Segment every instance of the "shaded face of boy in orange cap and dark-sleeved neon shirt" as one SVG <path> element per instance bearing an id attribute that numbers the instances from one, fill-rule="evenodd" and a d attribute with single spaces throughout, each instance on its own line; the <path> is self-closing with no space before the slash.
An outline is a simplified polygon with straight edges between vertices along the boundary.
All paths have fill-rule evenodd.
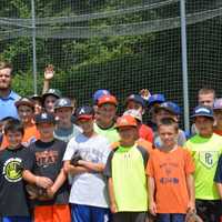
<path id="1" fill-rule="evenodd" d="M 138 129 L 134 127 L 119 128 L 120 139 L 124 143 L 132 143 L 138 139 Z"/>

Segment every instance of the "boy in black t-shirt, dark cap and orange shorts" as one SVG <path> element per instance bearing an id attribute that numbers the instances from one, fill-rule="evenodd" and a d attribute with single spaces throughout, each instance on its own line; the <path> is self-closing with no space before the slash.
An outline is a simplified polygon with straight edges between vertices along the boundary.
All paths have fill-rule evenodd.
<path id="1" fill-rule="evenodd" d="M 50 113 L 36 115 L 40 140 L 27 149 L 23 179 L 32 185 L 32 190 L 38 190 L 31 194 L 34 222 L 71 221 L 67 174 L 62 162 L 67 144 L 54 139 L 54 117 Z"/>

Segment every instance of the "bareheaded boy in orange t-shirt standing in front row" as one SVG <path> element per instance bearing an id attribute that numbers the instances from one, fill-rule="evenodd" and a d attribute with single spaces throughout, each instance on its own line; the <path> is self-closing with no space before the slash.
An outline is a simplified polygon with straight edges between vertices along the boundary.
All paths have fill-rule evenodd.
<path id="1" fill-rule="evenodd" d="M 152 151 L 148 164 L 150 213 L 158 222 L 184 222 L 194 211 L 194 163 L 189 151 L 178 147 L 178 123 L 164 118 L 158 125 L 162 149 Z"/>

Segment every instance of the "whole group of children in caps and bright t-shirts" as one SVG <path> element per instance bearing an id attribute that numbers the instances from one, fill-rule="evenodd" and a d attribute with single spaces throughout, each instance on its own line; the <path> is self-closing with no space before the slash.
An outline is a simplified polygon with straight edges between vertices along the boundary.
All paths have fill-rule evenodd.
<path id="1" fill-rule="evenodd" d="M 222 99 L 208 100 L 202 89 L 188 139 L 178 104 L 145 90 L 119 118 L 108 90 L 78 109 L 52 89 L 21 98 L 20 120 L 2 120 L 2 222 L 222 221 Z"/>

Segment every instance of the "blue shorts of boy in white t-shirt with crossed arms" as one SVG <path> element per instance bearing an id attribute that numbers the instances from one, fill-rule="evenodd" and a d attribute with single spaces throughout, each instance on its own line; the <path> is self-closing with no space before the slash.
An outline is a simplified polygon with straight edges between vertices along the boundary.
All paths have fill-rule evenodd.
<path id="1" fill-rule="evenodd" d="M 71 204 L 71 215 L 74 222 L 110 222 L 111 213 L 108 208 Z"/>

